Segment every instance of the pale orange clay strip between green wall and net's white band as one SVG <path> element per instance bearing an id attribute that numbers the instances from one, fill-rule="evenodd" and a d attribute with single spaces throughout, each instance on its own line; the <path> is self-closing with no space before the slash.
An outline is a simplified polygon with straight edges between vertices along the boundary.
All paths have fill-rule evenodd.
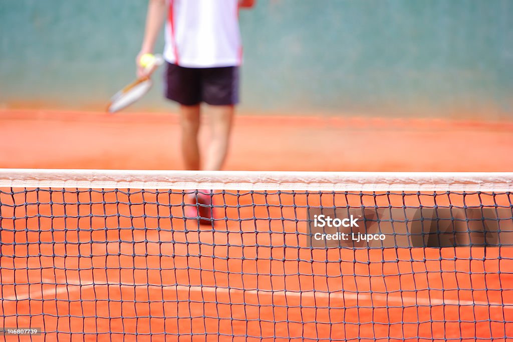
<path id="1" fill-rule="evenodd" d="M 0 126 L 2 168 L 183 168 L 174 114 L 0 110 Z M 513 171 L 512 132 L 513 122 L 238 115 L 225 169 Z"/>

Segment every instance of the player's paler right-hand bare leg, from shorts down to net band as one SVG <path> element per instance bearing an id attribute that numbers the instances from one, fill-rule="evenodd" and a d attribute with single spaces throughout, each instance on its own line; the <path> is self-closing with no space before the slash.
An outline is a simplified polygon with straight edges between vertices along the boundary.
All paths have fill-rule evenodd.
<path id="1" fill-rule="evenodd" d="M 210 137 L 205 154 L 205 170 L 221 170 L 228 152 L 234 106 L 210 106 Z"/>

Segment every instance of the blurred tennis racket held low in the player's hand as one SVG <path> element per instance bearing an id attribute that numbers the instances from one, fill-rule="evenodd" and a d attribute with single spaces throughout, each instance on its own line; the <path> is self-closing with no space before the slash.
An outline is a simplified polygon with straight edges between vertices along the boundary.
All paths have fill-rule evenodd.
<path id="1" fill-rule="evenodd" d="M 110 113 L 118 112 L 143 97 L 151 88 L 151 74 L 164 63 L 162 55 L 155 55 L 152 63 L 146 66 L 147 74 L 144 77 L 137 78 L 125 88 L 121 89 L 110 98 L 107 111 Z"/>

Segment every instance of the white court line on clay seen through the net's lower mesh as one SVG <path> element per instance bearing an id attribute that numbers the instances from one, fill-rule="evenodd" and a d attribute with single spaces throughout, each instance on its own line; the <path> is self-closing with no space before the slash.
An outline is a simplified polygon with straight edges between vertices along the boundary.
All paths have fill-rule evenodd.
<path id="1" fill-rule="evenodd" d="M 43 283 L 53 284 L 53 279 L 42 279 Z M 117 283 L 114 281 L 92 281 L 92 280 L 78 280 L 78 279 L 67 279 L 68 284 L 55 284 L 55 289 L 39 289 L 29 291 L 24 294 L 16 294 L 12 296 L 5 296 L 4 300 L 27 300 L 27 299 L 37 299 L 44 298 L 49 295 L 56 295 L 61 293 L 70 293 L 73 291 L 81 291 L 83 289 L 94 288 L 95 286 L 116 286 L 120 288 L 134 288 L 134 287 L 148 287 L 146 283 Z M 426 297 L 403 297 L 397 294 L 383 294 L 383 293 L 351 293 L 351 292 L 336 292 L 336 293 L 326 293 L 320 291 L 288 291 L 288 290 L 241 290 L 241 289 L 227 289 L 227 288 L 216 288 L 216 287 L 206 287 L 206 286 L 188 286 L 188 285 L 149 285 L 152 287 L 162 288 L 165 291 L 176 291 L 176 292 L 193 292 L 193 293 L 225 293 L 225 294 L 251 294 L 256 296 L 285 296 L 292 298 L 326 298 L 330 300 L 338 299 L 338 300 L 378 300 L 385 301 L 386 303 L 394 303 L 399 305 L 424 305 L 424 306 L 432 306 L 432 305 L 453 305 L 453 306 L 498 306 L 503 307 L 504 309 L 513 309 L 513 304 L 499 303 L 499 302 L 488 302 L 488 301 L 474 301 L 474 300 L 455 300 L 455 299 L 443 299 L 443 298 L 426 298 Z M 235 303 L 235 305 L 240 305 L 239 303 Z"/>

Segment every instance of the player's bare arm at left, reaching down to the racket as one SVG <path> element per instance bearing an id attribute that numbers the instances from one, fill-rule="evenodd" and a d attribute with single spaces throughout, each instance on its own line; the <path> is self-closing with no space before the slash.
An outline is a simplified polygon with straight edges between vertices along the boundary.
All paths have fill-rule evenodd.
<path id="1" fill-rule="evenodd" d="M 145 74 L 145 69 L 139 65 L 139 60 L 145 53 L 153 53 L 155 42 L 164 24 L 164 14 L 166 13 L 166 0 L 149 0 L 148 13 L 146 15 L 146 28 L 144 31 L 143 45 L 141 51 L 137 54 L 135 63 L 137 65 L 137 77 Z"/>

